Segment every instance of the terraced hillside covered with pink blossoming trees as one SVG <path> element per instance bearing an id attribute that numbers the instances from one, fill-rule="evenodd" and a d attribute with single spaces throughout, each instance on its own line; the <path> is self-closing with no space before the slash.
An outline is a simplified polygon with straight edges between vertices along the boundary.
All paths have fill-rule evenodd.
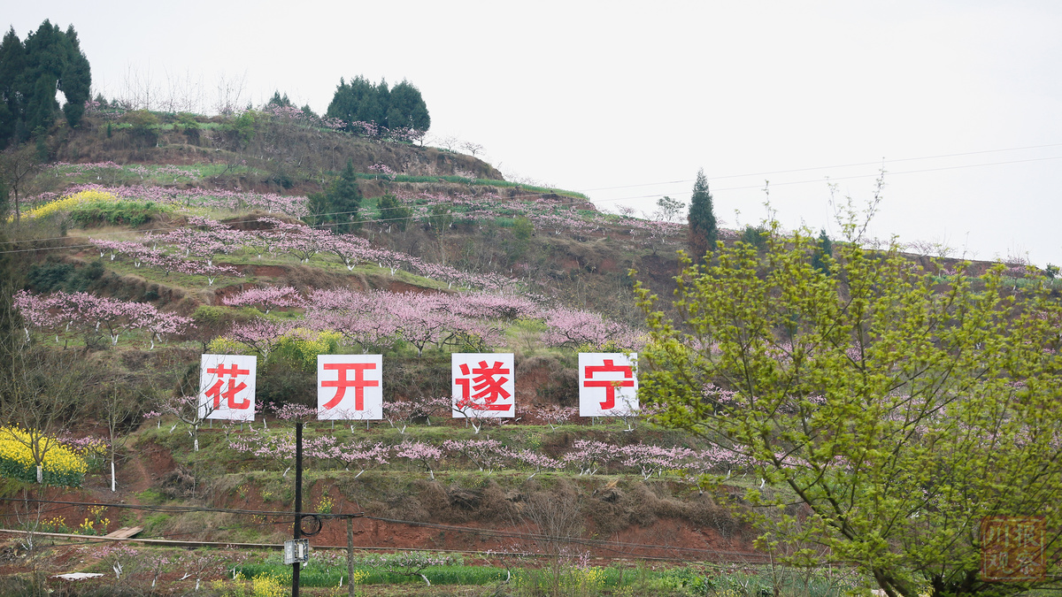
<path id="1" fill-rule="evenodd" d="M 294 500 L 293 424 L 315 412 L 318 355 L 382 354 L 382 420 L 306 424 L 304 507 L 358 513 L 355 545 L 491 550 L 490 565 L 511 557 L 531 568 L 529 555 L 764 561 L 727 506 L 747 508 L 740 494 L 763 483 L 747 460 L 643 417 L 573 408 L 580 352 L 640 348 L 628 272 L 671 295 L 685 226 L 602 214 L 579 193 L 512 184 L 436 148 L 261 113 L 242 130 L 232 118 L 150 116 L 57 125 L 51 161 L 21 186 L 24 216 L 7 227 L 22 251 L 15 354 L 51 368 L 46 392 L 78 398 L 21 422 L 88 462 L 82 477 L 68 472 L 76 489 L 41 491 L 24 475 L 5 485 L 5 498 L 79 502 L 38 509 L 27 528 L 279 542 L 291 532 L 278 513 Z M 307 195 L 348 161 L 364 198 L 354 229 L 306 226 Z M 929 271 L 956 266 L 909 257 Z M 1021 268 L 1013 276 L 1017 291 Z M 514 354 L 513 420 L 450 416 L 450 354 L 479 352 Z M 189 409 L 204 353 L 257 356 L 254 423 Z M 701 491 L 708 472 L 729 480 Z M 342 521 L 325 517 L 311 543 L 345 545 Z M 206 576 L 221 576 L 213 568 Z"/>

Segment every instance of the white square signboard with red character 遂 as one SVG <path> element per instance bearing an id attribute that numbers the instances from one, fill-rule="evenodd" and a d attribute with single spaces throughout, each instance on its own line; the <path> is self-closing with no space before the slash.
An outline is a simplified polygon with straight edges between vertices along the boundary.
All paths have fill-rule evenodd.
<path id="1" fill-rule="evenodd" d="M 512 353 L 453 353 L 450 371 L 455 419 L 516 414 Z"/>

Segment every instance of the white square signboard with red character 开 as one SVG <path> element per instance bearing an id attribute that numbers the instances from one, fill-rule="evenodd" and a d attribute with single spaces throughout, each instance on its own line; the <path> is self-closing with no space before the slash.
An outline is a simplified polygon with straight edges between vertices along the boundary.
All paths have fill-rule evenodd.
<path id="1" fill-rule="evenodd" d="M 318 355 L 318 419 L 383 419 L 383 356 Z"/>

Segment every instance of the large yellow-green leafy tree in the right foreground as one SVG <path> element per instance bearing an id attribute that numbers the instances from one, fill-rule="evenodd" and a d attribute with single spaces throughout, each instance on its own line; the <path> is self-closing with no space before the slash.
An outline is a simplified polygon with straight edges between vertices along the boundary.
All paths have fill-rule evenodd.
<path id="1" fill-rule="evenodd" d="M 1003 266 L 942 286 L 896 243 L 862 249 L 853 221 L 828 273 L 809 231 L 776 223 L 765 253 L 686 258 L 674 321 L 638 285 L 643 404 L 748 458 L 759 546 L 791 564 L 855 565 L 890 597 L 1048 582 L 981 578 L 979 527 L 1042 517 L 1058 574 L 1062 305 L 1046 279 L 1014 294 Z"/>

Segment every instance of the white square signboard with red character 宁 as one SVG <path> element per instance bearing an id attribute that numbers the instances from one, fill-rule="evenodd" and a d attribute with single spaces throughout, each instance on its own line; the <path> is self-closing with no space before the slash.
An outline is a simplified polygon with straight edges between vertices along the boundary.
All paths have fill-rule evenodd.
<path id="1" fill-rule="evenodd" d="M 638 412 L 637 353 L 579 353 L 579 416 Z"/>

